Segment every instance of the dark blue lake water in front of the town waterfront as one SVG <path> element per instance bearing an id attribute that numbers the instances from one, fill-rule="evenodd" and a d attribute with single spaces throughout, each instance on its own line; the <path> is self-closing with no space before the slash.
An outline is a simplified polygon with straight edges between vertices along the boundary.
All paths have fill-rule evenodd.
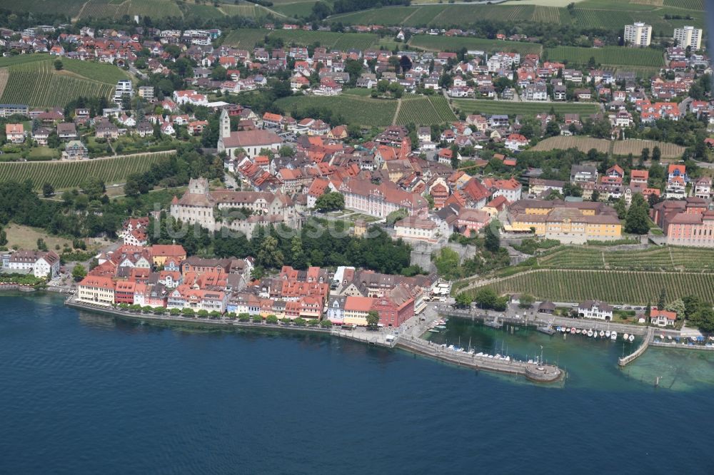
<path id="1" fill-rule="evenodd" d="M 655 389 L 572 342 L 561 364 L 593 357 L 543 387 L 323 336 L 135 325 L 49 295 L 0 308 L 3 474 L 713 471 L 701 357 L 685 389 Z"/>

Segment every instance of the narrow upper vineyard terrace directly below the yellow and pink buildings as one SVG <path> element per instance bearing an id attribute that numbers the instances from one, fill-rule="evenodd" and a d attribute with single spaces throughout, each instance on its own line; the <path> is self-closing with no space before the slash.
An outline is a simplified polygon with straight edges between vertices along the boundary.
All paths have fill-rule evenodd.
<path id="1" fill-rule="evenodd" d="M 653 247 L 645 250 L 603 251 L 597 247 L 567 246 L 540 255 L 538 265 L 553 269 L 714 272 L 714 250 Z"/>

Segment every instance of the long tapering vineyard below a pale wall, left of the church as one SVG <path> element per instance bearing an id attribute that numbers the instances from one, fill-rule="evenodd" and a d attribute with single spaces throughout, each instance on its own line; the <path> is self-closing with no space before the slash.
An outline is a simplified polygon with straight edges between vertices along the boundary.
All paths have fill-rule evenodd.
<path id="1" fill-rule="evenodd" d="M 32 180 L 35 188 L 50 183 L 56 190 L 74 188 L 87 178 L 101 178 L 111 184 L 123 181 L 131 173 L 149 170 L 160 158 L 174 153 L 124 155 L 81 161 L 0 163 L 0 181 Z"/>

